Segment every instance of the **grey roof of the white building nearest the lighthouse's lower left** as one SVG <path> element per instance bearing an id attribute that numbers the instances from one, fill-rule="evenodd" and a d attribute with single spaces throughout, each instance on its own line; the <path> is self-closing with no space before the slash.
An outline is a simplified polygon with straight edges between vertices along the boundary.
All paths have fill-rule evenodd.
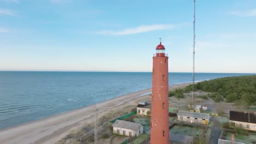
<path id="1" fill-rule="evenodd" d="M 141 124 L 139 124 L 139 123 L 121 121 L 121 120 L 118 120 L 118 119 L 117 119 L 117 121 L 115 121 L 112 124 L 112 127 L 131 129 L 131 130 L 135 130 L 135 131 L 138 130 L 140 126 L 141 126 Z"/>

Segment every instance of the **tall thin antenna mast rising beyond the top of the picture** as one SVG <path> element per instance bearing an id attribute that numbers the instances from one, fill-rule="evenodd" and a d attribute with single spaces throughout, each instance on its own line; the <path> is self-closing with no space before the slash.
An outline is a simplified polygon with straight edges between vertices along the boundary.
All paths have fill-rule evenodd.
<path id="1" fill-rule="evenodd" d="M 193 17 L 193 109 L 194 109 L 194 85 L 195 85 L 195 0 L 194 0 L 194 17 Z"/>

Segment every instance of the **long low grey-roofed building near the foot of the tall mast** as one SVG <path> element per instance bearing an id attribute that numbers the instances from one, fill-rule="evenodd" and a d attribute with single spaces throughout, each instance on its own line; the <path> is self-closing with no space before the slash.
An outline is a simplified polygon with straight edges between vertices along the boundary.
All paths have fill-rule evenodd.
<path id="1" fill-rule="evenodd" d="M 180 122 L 201 123 L 201 124 L 209 124 L 210 122 L 209 113 L 178 111 L 177 116 L 178 116 L 178 121 Z"/>

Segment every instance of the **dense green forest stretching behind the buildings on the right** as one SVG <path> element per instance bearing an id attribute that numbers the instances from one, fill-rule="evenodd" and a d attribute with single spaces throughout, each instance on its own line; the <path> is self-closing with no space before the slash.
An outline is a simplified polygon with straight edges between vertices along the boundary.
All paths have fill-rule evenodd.
<path id="1" fill-rule="evenodd" d="M 183 98 L 184 93 L 192 91 L 193 85 L 178 88 L 169 92 L 169 97 Z M 195 91 L 211 92 L 204 98 L 210 97 L 219 102 L 226 100 L 228 103 L 239 103 L 241 105 L 256 105 L 256 75 L 232 76 L 219 79 L 197 82 Z"/>

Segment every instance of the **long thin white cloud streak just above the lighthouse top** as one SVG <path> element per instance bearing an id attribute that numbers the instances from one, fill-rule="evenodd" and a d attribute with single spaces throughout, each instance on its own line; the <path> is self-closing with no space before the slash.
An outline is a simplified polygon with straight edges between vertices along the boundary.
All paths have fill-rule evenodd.
<path id="1" fill-rule="evenodd" d="M 136 34 L 136 33 L 144 33 L 149 31 L 156 31 L 156 30 L 162 30 L 162 29 L 171 29 L 174 28 L 174 25 L 165 24 L 165 25 L 147 25 L 147 26 L 138 26 L 135 28 L 127 28 L 120 31 L 108 31 L 103 30 L 96 32 L 97 34 L 103 34 L 103 35 L 127 35 L 127 34 Z"/>

